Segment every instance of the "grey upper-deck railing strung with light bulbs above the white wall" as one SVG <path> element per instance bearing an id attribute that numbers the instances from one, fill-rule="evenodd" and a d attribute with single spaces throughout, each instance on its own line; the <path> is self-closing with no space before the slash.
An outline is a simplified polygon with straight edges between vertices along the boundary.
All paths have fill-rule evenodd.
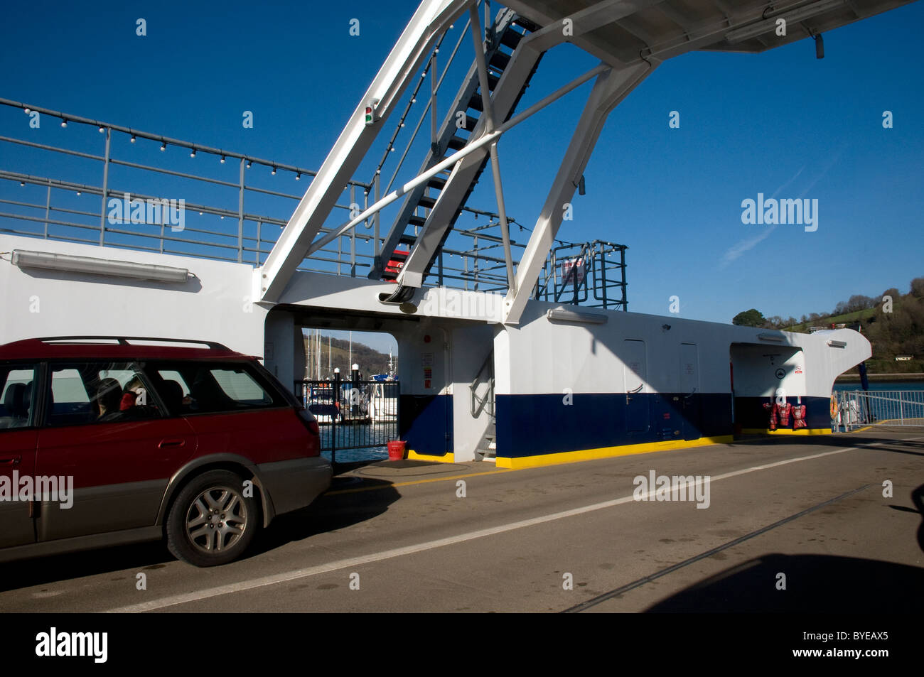
<path id="1" fill-rule="evenodd" d="M 38 127 L 30 124 L 33 120 Z M 3 163 L 15 163 L 0 164 L 0 233 L 13 235 L 259 266 L 315 174 L 306 167 L 6 99 L 0 99 L 0 130 L 21 132 L 0 134 Z M 349 181 L 321 233 L 368 207 L 381 192 L 380 176 L 371 183 Z M 468 223 L 457 224 L 440 248 L 426 284 L 505 293 L 498 215 L 468 206 L 463 212 Z M 313 253 L 299 270 L 365 277 L 384 242 L 377 218 Z M 531 230 L 508 219 L 516 265 Z M 523 231 L 527 237 L 517 241 L 515 234 Z M 598 267 L 594 263 L 594 270 Z M 557 263 L 547 263 L 537 289 L 550 284 L 549 276 L 559 270 Z M 593 299 L 600 305 L 597 292 Z M 611 304 L 604 299 L 602 305 Z"/>

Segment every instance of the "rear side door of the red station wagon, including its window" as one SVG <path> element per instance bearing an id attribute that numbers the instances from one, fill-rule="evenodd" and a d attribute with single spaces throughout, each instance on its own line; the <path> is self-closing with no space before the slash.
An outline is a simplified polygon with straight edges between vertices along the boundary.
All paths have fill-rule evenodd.
<path id="1" fill-rule="evenodd" d="M 163 401 L 143 381 L 144 405 L 101 416 L 127 385 L 144 379 L 129 363 L 49 365 L 50 407 L 40 429 L 36 472 L 70 483 L 73 501 L 43 502 L 40 541 L 153 526 L 169 479 L 196 451 L 183 417 L 166 416 Z M 106 383 L 117 387 L 101 392 Z M 107 394 L 108 393 L 108 394 Z"/>

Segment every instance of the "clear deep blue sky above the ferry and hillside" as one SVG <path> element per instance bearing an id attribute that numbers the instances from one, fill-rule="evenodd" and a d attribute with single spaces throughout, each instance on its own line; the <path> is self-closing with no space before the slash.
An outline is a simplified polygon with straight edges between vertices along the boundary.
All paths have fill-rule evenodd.
<path id="1" fill-rule="evenodd" d="M 0 96 L 317 168 L 413 9 L 359 0 L 11 4 L 0 27 Z M 351 18 L 359 37 L 349 35 Z M 924 275 L 922 25 L 924 4 L 913 3 L 826 33 L 823 60 L 806 40 L 665 63 L 610 116 L 587 195 L 575 198 L 575 220 L 559 237 L 627 245 L 629 308 L 638 312 L 667 314 L 676 295 L 687 318 L 728 322 L 747 308 L 798 318 L 853 294 L 906 291 Z M 461 49 L 468 66 L 469 38 Z M 521 109 L 595 64 L 570 45 L 547 54 Z M 501 141 L 507 211 L 518 223 L 534 224 L 589 89 Z M 253 128 L 242 127 L 244 110 Z M 672 110 L 679 129 L 668 127 Z M 881 124 L 886 110 L 892 129 Z M 26 122 L 0 116 L 5 135 Z M 35 136 L 54 143 L 71 127 Z M 18 151 L 0 151 L 0 166 L 42 174 Z M 357 178 L 370 174 L 365 163 Z M 818 199 L 818 230 L 742 224 L 741 201 L 758 193 Z M 490 175 L 469 204 L 495 209 Z M 520 241 L 528 235 L 514 229 Z"/>

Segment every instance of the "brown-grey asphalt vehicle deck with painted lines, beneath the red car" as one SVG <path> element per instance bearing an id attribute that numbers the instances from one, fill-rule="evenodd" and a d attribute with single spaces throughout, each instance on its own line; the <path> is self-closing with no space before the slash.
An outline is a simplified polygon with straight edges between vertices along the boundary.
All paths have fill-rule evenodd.
<path id="1" fill-rule="evenodd" d="M 659 501 L 660 476 L 692 476 L 687 500 Z M 0 611 L 918 611 L 922 520 L 921 430 L 529 470 L 383 462 L 225 566 L 161 543 L 0 565 Z"/>

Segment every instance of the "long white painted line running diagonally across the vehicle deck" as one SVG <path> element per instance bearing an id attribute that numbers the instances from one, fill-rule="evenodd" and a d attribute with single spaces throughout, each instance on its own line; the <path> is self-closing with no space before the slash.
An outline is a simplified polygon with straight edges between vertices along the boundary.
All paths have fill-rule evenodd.
<path id="1" fill-rule="evenodd" d="M 772 468 L 777 465 L 786 465 L 790 463 L 797 463 L 799 461 L 808 461 L 814 458 L 821 458 L 821 456 L 830 456 L 835 453 L 844 453 L 851 451 L 859 451 L 856 447 L 845 447 L 844 449 L 835 449 L 832 452 L 825 453 L 816 453 L 810 456 L 801 456 L 798 458 L 788 459 L 785 461 L 779 461 L 777 463 L 772 463 L 769 465 L 758 465 L 755 467 L 745 468 L 743 470 L 736 470 L 734 472 L 725 473 L 711 478 L 711 481 L 717 481 L 719 479 L 725 478 L 734 478 L 739 475 L 746 475 L 748 473 L 755 472 L 757 470 L 765 470 L 767 468 Z M 654 491 L 649 492 L 650 495 L 654 495 Z M 580 508 L 572 508 L 571 510 L 565 510 L 560 513 L 546 514 L 541 517 L 531 517 L 529 519 L 520 520 L 518 522 L 511 522 L 510 524 L 501 525 L 501 526 L 492 526 L 486 529 L 479 529 L 477 531 L 469 531 L 465 534 L 459 534 L 458 536 L 450 536 L 447 538 L 438 538 L 436 540 L 426 541 L 424 543 L 418 543 L 416 545 L 405 546 L 403 548 L 394 548 L 392 550 L 383 550 L 381 552 L 373 552 L 369 555 L 360 555 L 359 557 L 350 557 L 346 560 L 337 560 L 336 562 L 328 562 L 326 564 L 318 564 L 316 566 L 306 567 L 304 569 L 296 569 L 294 571 L 286 572 L 285 574 L 274 574 L 269 576 L 262 576 L 261 578 L 253 578 L 248 581 L 241 581 L 239 583 L 231 583 L 226 586 L 216 586 L 206 589 L 199 590 L 197 592 L 188 592 L 181 593 L 179 595 L 172 595 L 170 597 L 152 599 L 147 602 L 140 602 L 139 604 L 130 604 L 125 607 L 118 607 L 116 609 L 110 609 L 105 611 L 106 613 L 138 613 L 141 611 L 153 611 L 155 609 L 163 609 L 164 607 L 176 606 L 176 604 L 186 604 L 188 602 L 198 601 L 200 599 L 207 599 L 218 597 L 220 595 L 229 595 L 235 592 L 243 592 L 246 590 L 252 590 L 257 587 L 264 586 L 273 586 L 278 583 L 286 583 L 288 581 L 293 581 L 298 578 L 306 578 L 308 576 L 313 576 L 317 574 L 327 574 L 337 569 L 345 569 L 346 567 L 352 566 L 362 566 L 364 564 L 371 564 L 372 562 L 381 562 L 382 560 L 388 560 L 393 557 L 401 557 L 403 555 L 410 555 L 416 552 L 422 552 L 424 550 L 433 550 L 434 548 L 442 548 L 447 545 L 455 545 L 456 543 L 464 543 L 467 540 L 474 540 L 475 538 L 485 538 L 487 536 L 494 536 L 496 534 L 503 534 L 507 531 L 513 531 L 514 529 L 521 529 L 526 526 L 536 526 L 541 525 L 546 522 L 553 522 L 554 520 L 559 520 L 564 517 L 573 517 L 578 514 L 592 513 L 597 510 L 602 510 L 604 508 L 612 508 L 615 505 L 621 505 L 623 503 L 633 503 L 636 502 L 635 497 L 630 494 L 619 499 L 614 499 L 613 501 L 604 501 L 600 503 L 592 503 L 591 505 L 585 505 Z"/>

